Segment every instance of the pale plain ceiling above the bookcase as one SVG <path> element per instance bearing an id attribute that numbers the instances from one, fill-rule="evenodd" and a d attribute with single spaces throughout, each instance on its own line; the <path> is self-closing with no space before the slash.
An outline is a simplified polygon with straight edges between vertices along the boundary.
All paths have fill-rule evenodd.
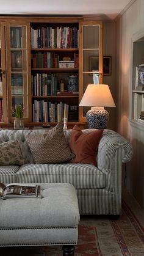
<path id="1" fill-rule="evenodd" d="M 95 15 L 115 19 L 132 0 L 2 0 L 0 15 Z"/>

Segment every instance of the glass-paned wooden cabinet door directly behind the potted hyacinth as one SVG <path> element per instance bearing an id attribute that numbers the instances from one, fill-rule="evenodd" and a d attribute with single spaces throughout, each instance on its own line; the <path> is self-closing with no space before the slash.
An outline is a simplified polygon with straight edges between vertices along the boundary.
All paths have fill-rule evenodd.
<path id="1" fill-rule="evenodd" d="M 11 108 L 21 104 L 25 121 L 30 119 L 29 95 L 29 49 L 27 48 L 27 27 L 28 25 L 9 24 L 9 120 L 13 120 Z"/>

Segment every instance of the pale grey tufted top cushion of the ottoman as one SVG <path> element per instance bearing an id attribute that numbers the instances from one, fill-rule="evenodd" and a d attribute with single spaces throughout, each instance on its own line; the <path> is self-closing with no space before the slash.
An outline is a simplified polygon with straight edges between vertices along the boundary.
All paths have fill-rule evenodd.
<path id="1" fill-rule="evenodd" d="M 0 230 L 68 228 L 79 223 L 76 189 L 70 184 L 43 184 L 41 198 L 0 200 L 0 208 Z"/>

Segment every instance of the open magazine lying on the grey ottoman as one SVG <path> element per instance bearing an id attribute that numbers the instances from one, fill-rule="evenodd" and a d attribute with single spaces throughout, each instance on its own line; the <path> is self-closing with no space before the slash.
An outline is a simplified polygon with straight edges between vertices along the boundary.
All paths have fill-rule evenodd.
<path id="1" fill-rule="evenodd" d="M 12 197 L 40 197 L 40 186 L 31 184 L 0 183 L 0 199 Z"/>

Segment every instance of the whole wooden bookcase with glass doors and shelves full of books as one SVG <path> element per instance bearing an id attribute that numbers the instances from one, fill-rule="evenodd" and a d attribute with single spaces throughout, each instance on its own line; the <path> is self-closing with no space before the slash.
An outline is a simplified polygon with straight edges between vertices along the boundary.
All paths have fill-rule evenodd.
<path id="1" fill-rule="evenodd" d="M 13 126 L 11 108 L 21 103 L 27 109 L 27 127 L 56 125 L 65 111 L 68 127 L 84 127 L 85 110 L 79 101 L 93 83 L 93 73 L 101 74 L 99 82 L 103 77 L 102 22 L 76 16 L 7 16 L 0 21 L 1 126 Z M 90 57 L 96 57 L 97 70 L 90 70 Z M 69 66 L 60 66 L 66 63 Z M 78 79 L 77 93 L 67 92 L 70 76 Z"/>

